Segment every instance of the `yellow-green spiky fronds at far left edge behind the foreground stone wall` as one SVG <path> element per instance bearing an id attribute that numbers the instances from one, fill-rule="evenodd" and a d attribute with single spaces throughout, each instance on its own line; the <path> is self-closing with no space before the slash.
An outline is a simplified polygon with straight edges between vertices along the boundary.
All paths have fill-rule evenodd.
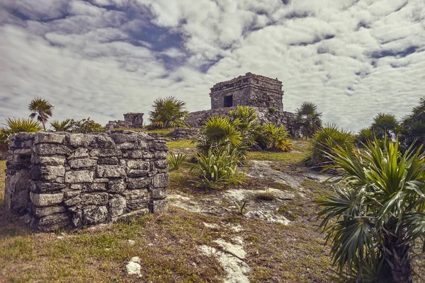
<path id="1" fill-rule="evenodd" d="M 19 132 L 38 132 L 42 130 L 40 123 L 32 119 L 6 118 L 6 127 L 0 129 L 0 143 L 8 143 L 12 134 Z"/>

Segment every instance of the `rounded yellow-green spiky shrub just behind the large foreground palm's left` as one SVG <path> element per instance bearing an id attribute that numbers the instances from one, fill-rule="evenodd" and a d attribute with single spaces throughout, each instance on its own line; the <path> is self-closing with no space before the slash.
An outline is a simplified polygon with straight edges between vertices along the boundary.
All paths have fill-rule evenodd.
<path id="1" fill-rule="evenodd" d="M 331 154 L 336 146 L 353 149 L 353 135 L 336 124 L 325 125 L 312 138 L 310 155 L 305 159 L 308 166 L 327 166 L 333 163 Z"/>

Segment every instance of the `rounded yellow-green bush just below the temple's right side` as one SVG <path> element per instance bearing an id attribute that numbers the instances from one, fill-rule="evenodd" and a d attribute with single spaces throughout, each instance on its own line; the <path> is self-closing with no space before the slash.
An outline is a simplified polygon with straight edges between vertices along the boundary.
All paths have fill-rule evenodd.
<path id="1" fill-rule="evenodd" d="M 285 126 L 277 127 L 271 122 L 267 122 L 259 128 L 256 142 L 261 149 L 290 151 L 293 148 L 293 144 L 288 139 L 288 132 L 286 132 Z"/>

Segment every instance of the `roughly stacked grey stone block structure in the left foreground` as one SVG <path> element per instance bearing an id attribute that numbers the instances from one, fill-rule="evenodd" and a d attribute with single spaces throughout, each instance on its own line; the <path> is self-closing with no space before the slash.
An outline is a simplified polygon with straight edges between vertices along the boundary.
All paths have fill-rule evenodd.
<path id="1" fill-rule="evenodd" d="M 39 231 L 164 212 L 167 151 L 163 139 L 144 132 L 14 134 L 6 207 Z"/>

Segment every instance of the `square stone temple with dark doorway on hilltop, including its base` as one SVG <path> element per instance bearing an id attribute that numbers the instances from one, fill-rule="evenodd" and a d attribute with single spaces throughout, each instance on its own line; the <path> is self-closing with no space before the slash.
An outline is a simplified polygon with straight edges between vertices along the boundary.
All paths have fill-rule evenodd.
<path id="1" fill-rule="evenodd" d="M 211 109 L 189 113 L 186 122 L 191 127 L 200 127 L 212 116 L 225 117 L 229 110 L 238 105 L 249 106 L 256 110 L 257 120 L 263 124 L 273 122 L 293 135 L 294 115 L 283 111 L 282 82 L 266 76 L 246 73 L 229 81 L 216 83 L 210 88 Z"/>

